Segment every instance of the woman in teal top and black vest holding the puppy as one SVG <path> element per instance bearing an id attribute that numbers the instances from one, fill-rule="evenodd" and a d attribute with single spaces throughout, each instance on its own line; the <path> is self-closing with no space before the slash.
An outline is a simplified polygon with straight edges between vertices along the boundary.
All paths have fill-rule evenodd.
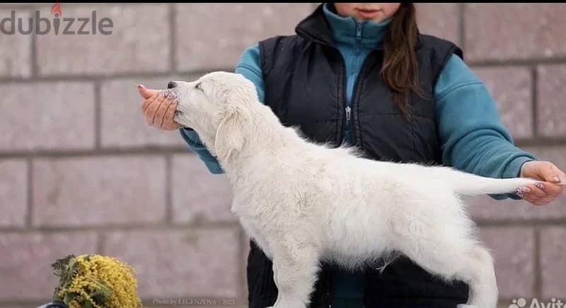
<path id="1" fill-rule="evenodd" d="M 516 148 L 485 85 L 454 43 L 421 35 L 413 4 L 321 4 L 296 27 L 249 47 L 236 66 L 261 102 L 312 141 L 345 141 L 369 158 L 437 163 L 485 177 L 533 177 L 495 199 L 553 201 L 566 174 Z M 139 86 L 148 123 L 179 129 L 175 102 Z M 169 111 L 167 111 L 169 110 Z M 169 113 L 169 117 L 164 114 Z M 223 173 L 195 131 L 180 133 L 210 172 Z M 250 307 L 275 302 L 270 261 L 250 242 Z M 383 272 L 347 273 L 323 264 L 311 307 L 456 307 L 468 287 L 448 285 L 402 257 Z"/>

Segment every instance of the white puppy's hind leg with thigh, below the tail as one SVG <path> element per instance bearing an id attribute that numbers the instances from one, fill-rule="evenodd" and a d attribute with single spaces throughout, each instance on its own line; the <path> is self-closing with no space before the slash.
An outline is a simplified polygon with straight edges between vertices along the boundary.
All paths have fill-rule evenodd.
<path id="1" fill-rule="evenodd" d="M 446 281 L 468 284 L 468 302 L 458 308 L 496 308 L 493 260 L 469 235 L 470 227 L 468 218 L 463 216 L 435 222 L 413 219 L 397 225 L 395 234 L 400 251 L 424 270 Z"/>

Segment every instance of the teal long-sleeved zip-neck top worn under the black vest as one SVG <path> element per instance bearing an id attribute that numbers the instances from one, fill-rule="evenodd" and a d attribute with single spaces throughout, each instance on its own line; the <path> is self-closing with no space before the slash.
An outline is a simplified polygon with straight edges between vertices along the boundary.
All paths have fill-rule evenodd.
<path id="1" fill-rule="evenodd" d="M 347 105 L 350 105 L 354 82 L 364 59 L 372 49 L 381 44 L 391 20 L 381 23 L 357 23 L 353 18 L 338 16 L 328 4 L 324 6 L 324 11 L 333 33 L 335 47 L 345 59 L 346 98 Z M 260 102 L 264 102 L 265 86 L 258 45 L 243 52 L 235 71 L 255 84 L 258 98 Z M 434 88 L 434 98 L 443 165 L 485 177 L 509 178 L 519 176 L 524 162 L 536 160 L 530 153 L 514 146 L 512 136 L 499 119 L 496 104 L 485 84 L 458 56 L 453 55 L 441 71 Z M 210 172 L 224 172 L 195 131 L 181 129 L 180 132 L 188 147 L 199 156 Z M 351 144 L 351 138 L 348 122 L 345 126 L 345 141 Z M 492 197 L 519 199 L 514 194 Z M 341 299 L 347 299 L 350 304 L 361 301 L 360 273 L 339 271 L 335 273 L 334 281 L 336 307 L 341 305 L 338 302 Z"/>

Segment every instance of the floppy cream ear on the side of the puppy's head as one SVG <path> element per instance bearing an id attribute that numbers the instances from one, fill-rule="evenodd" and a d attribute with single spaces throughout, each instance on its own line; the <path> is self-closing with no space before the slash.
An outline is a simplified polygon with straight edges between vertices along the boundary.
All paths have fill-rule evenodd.
<path id="1" fill-rule="evenodd" d="M 248 119 L 248 113 L 242 108 L 231 104 L 226 106 L 214 138 L 214 150 L 218 158 L 226 161 L 233 151 L 242 150 Z"/>

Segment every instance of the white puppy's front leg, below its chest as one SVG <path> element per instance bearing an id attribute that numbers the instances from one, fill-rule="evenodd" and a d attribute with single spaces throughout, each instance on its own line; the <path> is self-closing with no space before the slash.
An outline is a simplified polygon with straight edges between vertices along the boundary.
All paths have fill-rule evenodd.
<path id="1" fill-rule="evenodd" d="M 273 250 L 277 301 L 273 308 L 305 308 L 318 273 L 318 252 L 304 244 L 285 244 Z"/>

